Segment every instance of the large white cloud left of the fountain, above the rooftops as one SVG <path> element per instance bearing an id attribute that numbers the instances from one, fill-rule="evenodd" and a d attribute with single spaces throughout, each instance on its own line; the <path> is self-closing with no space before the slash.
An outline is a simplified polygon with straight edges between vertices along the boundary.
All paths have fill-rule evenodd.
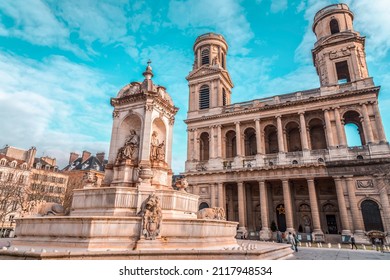
<path id="1" fill-rule="evenodd" d="M 73 150 L 107 150 L 111 108 L 101 73 L 64 57 L 0 53 L 0 143 L 36 146 L 60 166 Z M 98 105 L 96 105 L 98 104 Z M 96 151 L 96 150 L 95 150 Z"/>

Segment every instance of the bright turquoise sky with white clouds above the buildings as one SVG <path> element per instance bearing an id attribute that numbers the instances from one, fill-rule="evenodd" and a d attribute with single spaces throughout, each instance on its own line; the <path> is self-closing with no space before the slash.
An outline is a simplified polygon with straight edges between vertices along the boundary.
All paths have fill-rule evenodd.
<path id="1" fill-rule="evenodd" d="M 141 81 L 150 58 L 154 82 L 175 105 L 173 170 L 184 171 L 188 87 L 197 36 L 217 32 L 229 44 L 232 102 L 316 88 L 311 25 L 326 0 L 3 0 L 0 1 L 0 146 L 57 158 L 108 154 L 110 97 Z M 366 36 L 368 70 L 381 85 L 390 131 L 390 2 L 346 0 Z M 388 135 L 388 134 L 387 134 Z"/>

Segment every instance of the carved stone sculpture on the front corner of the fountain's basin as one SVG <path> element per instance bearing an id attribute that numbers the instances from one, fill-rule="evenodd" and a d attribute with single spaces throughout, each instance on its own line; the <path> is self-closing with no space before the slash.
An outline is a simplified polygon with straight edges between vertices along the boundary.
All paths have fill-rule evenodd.
<path id="1" fill-rule="evenodd" d="M 142 208 L 142 234 L 147 240 L 154 240 L 160 234 L 162 212 L 160 199 L 149 195 Z"/>

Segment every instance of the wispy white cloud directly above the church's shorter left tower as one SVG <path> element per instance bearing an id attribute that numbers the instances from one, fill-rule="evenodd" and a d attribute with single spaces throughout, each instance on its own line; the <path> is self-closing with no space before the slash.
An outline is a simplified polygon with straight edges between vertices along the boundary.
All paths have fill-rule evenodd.
<path id="1" fill-rule="evenodd" d="M 231 53 L 248 53 L 245 46 L 253 38 L 253 32 L 237 1 L 171 0 L 168 18 L 193 36 L 206 32 L 223 33 Z"/>

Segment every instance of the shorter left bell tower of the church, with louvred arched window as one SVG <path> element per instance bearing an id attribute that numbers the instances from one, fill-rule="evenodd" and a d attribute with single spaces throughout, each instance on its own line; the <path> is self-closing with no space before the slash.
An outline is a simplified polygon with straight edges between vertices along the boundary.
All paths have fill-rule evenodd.
<path id="1" fill-rule="evenodd" d="M 199 36 L 193 50 L 193 69 L 186 77 L 190 91 L 189 117 L 191 112 L 229 105 L 233 88 L 226 70 L 228 45 L 222 35 L 206 33 Z"/>

